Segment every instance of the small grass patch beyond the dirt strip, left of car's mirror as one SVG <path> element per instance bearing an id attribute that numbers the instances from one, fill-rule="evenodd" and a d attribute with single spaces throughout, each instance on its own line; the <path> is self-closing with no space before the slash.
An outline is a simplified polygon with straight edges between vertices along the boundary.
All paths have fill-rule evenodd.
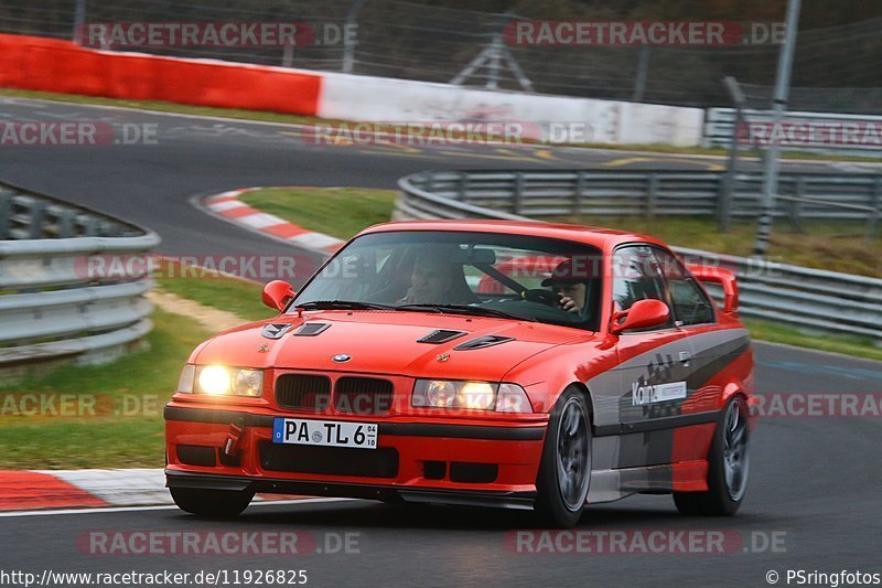
<path id="1" fill-rule="evenodd" d="M 168 292 L 232 312 L 249 321 L 259 321 L 276 314 L 260 301 L 260 284 L 202 271 L 195 274 L 196 270 L 182 268 L 180 264 L 170 263 L 162 267 L 162 276 L 157 281 Z"/>

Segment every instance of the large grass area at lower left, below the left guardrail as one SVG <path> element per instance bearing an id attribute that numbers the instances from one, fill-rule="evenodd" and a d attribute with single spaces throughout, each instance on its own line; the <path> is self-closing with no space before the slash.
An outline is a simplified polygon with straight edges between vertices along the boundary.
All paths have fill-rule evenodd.
<path id="1" fill-rule="evenodd" d="M 164 460 L 162 406 L 171 398 L 181 366 L 209 336 L 186 317 L 157 310 L 149 346 L 106 365 L 65 366 L 15 384 L 0 384 L 0 468 L 161 468 Z M 15 395 L 9 404 L 8 395 Z M 76 395 L 89 403 L 82 416 L 15 414 L 33 405 L 22 395 Z M 12 409 L 12 407 L 17 409 Z M 69 406 L 69 405 L 68 405 Z M 83 405 L 80 405 L 83 406 Z"/>

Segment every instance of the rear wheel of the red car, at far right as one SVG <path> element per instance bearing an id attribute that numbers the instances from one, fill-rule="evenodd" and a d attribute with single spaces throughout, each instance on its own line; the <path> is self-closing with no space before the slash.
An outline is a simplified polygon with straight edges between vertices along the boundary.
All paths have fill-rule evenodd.
<path id="1" fill-rule="evenodd" d="M 732 516 L 747 491 L 750 474 L 747 403 L 735 396 L 725 405 L 713 434 L 708 456 L 708 490 L 674 492 L 674 504 L 682 514 Z"/>

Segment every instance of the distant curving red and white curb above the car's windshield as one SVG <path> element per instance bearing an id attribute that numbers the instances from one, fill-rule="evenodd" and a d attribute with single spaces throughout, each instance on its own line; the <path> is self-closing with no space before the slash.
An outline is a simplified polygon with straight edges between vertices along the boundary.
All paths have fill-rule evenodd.
<path id="1" fill-rule="evenodd" d="M 238 200 L 238 196 L 241 194 L 254 190 L 261 189 L 245 188 L 241 190 L 230 190 L 229 192 L 223 192 L 203 199 L 202 204 L 217 216 L 230 223 L 323 255 L 333 254 L 343 245 L 344 242 L 336 237 L 309 231 L 302 226 L 289 223 L 284 218 L 279 218 L 273 214 L 252 209 Z"/>

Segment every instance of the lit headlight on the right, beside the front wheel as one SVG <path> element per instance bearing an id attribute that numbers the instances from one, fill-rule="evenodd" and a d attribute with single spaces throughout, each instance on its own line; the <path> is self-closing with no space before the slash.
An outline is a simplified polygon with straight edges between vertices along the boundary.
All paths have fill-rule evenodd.
<path id="1" fill-rule="evenodd" d="M 418 408 L 533 413 L 524 388 L 517 384 L 490 382 L 418 379 L 413 385 L 410 404 Z"/>

